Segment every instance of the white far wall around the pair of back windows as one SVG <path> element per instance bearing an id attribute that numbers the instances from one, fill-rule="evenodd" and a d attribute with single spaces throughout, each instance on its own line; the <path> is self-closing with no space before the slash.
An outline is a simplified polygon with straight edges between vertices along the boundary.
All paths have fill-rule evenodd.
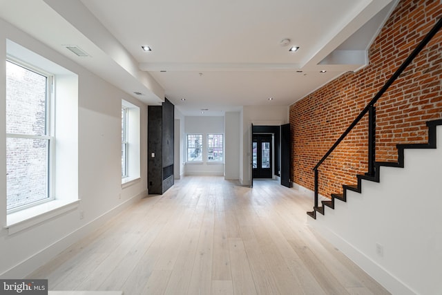
<path id="1" fill-rule="evenodd" d="M 201 133 L 203 141 L 202 162 L 186 162 L 185 175 L 224 175 L 224 163 L 207 162 L 206 141 L 208 133 L 224 134 L 224 117 L 185 117 L 186 134 Z M 184 149 L 186 149 L 184 140 Z M 186 157 L 186 155 L 184 156 Z M 225 156 L 224 156 L 225 158 Z M 184 158 L 186 160 L 186 158 Z"/>

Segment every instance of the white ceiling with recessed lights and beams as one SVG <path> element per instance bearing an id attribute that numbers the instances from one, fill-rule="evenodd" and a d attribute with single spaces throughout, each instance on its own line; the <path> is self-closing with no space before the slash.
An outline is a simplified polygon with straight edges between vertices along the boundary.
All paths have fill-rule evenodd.
<path id="1" fill-rule="evenodd" d="M 202 108 L 222 115 L 289 106 L 365 66 L 396 2 L 0 0 L 0 17 L 147 104 L 165 95 L 184 115 Z M 290 53 L 282 39 L 300 49 Z M 90 57 L 73 55 L 67 44 Z"/>

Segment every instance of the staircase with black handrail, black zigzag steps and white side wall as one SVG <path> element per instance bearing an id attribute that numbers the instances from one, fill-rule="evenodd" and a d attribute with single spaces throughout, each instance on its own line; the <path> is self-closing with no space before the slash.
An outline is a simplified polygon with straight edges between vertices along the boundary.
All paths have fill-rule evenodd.
<path id="1" fill-rule="evenodd" d="M 439 18 L 313 169 L 309 225 L 392 294 L 442 295 L 442 111 L 426 122 L 427 143 L 397 144 L 397 162 L 376 162 L 374 105 L 441 28 Z M 320 165 L 366 114 L 367 173 L 319 203 Z"/>

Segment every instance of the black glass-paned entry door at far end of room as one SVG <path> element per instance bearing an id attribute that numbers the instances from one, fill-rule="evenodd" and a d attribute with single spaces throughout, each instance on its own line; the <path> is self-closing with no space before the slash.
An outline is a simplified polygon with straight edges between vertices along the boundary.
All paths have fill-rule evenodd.
<path id="1" fill-rule="evenodd" d="M 271 135 L 253 134 L 252 167 L 253 178 L 272 178 L 271 173 Z"/>

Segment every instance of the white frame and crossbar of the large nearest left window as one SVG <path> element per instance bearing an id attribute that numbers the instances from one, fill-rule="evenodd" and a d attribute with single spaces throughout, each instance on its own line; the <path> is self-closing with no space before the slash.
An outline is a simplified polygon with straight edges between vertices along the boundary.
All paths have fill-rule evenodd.
<path id="1" fill-rule="evenodd" d="M 6 56 L 6 62 L 10 64 L 15 64 L 20 66 L 30 72 L 37 73 L 38 75 L 46 77 L 46 110 L 45 110 L 45 134 L 44 135 L 29 135 L 21 133 L 6 133 L 6 138 L 23 138 L 23 139 L 37 139 L 37 140 L 47 140 L 47 158 L 46 158 L 46 181 L 48 182 L 47 187 L 47 197 L 42 200 L 37 200 L 29 202 L 27 204 L 20 205 L 11 209 L 6 209 L 6 213 L 15 213 L 31 207 L 38 206 L 39 204 L 44 204 L 46 202 L 51 202 L 55 200 L 55 75 L 49 73 L 46 70 L 33 66 L 32 64 L 17 59 L 10 55 Z M 8 78 L 6 73 L 6 78 Z M 8 182 L 6 182 L 6 187 L 8 187 Z M 6 196 L 8 198 L 8 195 Z"/>

